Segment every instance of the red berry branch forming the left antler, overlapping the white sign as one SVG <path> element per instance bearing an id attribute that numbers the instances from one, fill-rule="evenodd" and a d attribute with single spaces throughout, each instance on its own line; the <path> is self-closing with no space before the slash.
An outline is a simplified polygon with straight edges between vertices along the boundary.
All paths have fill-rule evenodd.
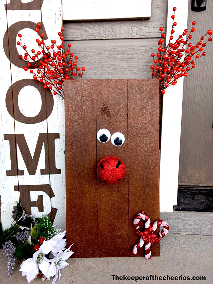
<path id="1" fill-rule="evenodd" d="M 82 72 L 79 72 L 80 68 L 77 67 L 78 56 L 75 56 L 75 54 L 70 51 L 70 43 L 68 43 L 66 51 L 64 50 L 64 28 L 61 28 L 61 31 L 58 33 L 62 44 L 57 45 L 56 40 L 51 40 L 51 46 L 46 46 L 43 41 L 44 34 L 39 33 L 40 26 L 41 24 L 37 23 L 37 28 L 35 28 L 35 31 L 41 38 L 36 39 L 40 50 L 35 52 L 35 49 L 32 49 L 31 52 L 33 53 L 33 56 L 30 56 L 28 53 L 27 46 L 22 45 L 22 35 L 20 33 L 18 34 L 20 41 L 17 41 L 17 45 L 21 46 L 25 51 L 24 56 L 20 54 L 19 58 L 27 61 L 28 67 L 24 67 L 24 70 L 32 73 L 35 81 L 39 80 L 43 84 L 43 88 L 49 88 L 53 91 L 54 95 L 59 94 L 64 98 L 64 80 L 76 79 L 77 75 L 79 76 L 79 79 L 82 79 L 85 67 L 82 67 Z M 38 61 L 40 55 L 43 55 L 43 61 Z M 37 70 L 36 73 L 33 69 L 29 70 L 29 67 Z"/>

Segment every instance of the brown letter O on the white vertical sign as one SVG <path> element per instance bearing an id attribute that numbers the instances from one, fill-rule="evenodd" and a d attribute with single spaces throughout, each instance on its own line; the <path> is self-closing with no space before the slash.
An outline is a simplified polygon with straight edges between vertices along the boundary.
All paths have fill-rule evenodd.
<path id="1" fill-rule="evenodd" d="M 35 87 L 41 95 L 41 110 L 34 117 L 27 117 L 22 114 L 18 106 L 19 92 L 23 87 L 28 85 Z M 44 90 L 43 84 L 33 79 L 23 79 L 13 83 L 7 91 L 5 101 L 9 114 L 15 120 L 26 124 L 39 123 L 47 119 L 50 116 L 54 105 L 53 95 L 51 91 L 48 88 Z"/>

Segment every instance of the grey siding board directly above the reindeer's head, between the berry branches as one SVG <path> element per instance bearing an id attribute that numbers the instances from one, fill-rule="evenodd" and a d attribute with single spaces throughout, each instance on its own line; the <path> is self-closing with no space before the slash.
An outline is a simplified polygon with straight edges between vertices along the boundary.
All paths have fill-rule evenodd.
<path id="1" fill-rule="evenodd" d="M 72 41 L 72 52 L 86 68 L 83 79 L 150 79 L 156 44 L 156 38 Z"/>

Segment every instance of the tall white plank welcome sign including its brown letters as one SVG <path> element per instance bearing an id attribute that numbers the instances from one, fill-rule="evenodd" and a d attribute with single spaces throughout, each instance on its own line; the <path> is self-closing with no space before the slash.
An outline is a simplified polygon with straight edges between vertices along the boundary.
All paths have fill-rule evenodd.
<path id="1" fill-rule="evenodd" d="M 49 45 L 51 39 L 58 36 L 56 31 L 62 25 L 61 3 L 58 1 L 52 5 L 50 0 L 30 3 L 10 1 L 5 7 L 4 3 L 1 3 L 0 7 L 1 18 L 4 18 L 1 59 L 7 70 L 1 72 L 1 82 L 4 85 L 1 133 L 5 135 L 2 135 L 1 139 L 1 156 L 4 161 L 1 171 L 3 186 L 0 192 L 2 224 L 4 228 L 10 226 L 11 208 L 14 201 L 19 201 L 23 207 L 26 204 L 28 208 L 31 207 L 34 217 L 41 217 L 42 213 L 50 213 L 49 216 L 54 217 L 57 212 L 55 223 L 64 229 L 65 166 L 61 167 L 59 162 L 64 160 L 63 103 L 60 101 L 62 104 L 56 106 L 57 99 L 44 91 L 42 85 L 36 85 L 32 75 L 23 70 L 24 61 L 18 58 L 18 54 L 24 52 L 16 45 L 17 34 L 21 33 L 22 44 L 27 45 L 28 51 L 37 46 L 34 31 L 37 22 L 41 22 L 46 44 Z M 9 100 L 5 100 L 7 92 Z M 40 112 L 39 115 L 37 111 Z M 4 140 L 4 137 L 9 140 Z M 11 149 L 11 141 L 14 149 Z M 57 170 L 51 174 L 52 165 Z M 13 175 L 7 177 L 11 170 Z M 15 175 L 15 172 L 18 175 Z M 41 185 L 41 188 L 38 185 Z M 42 190 L 43 185 L 45 191 Z M 17 186 L 18 189 L 26 186 L 28 194 L 19 194 Z"/>

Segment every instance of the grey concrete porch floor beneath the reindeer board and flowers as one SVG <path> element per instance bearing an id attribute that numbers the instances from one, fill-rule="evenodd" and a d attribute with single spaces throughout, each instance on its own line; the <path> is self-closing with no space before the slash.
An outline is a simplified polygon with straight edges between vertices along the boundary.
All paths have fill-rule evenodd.
<path id="1" fill-rule="evenodd" d="M 159 284 L 159 283 L 213 283 L 213 236 L 168 234 L 161 241 L 161 256 L 144 257 L 85 258 L 68 260 L 70 265 L 61 270 L 61 282 L 56 284 Z M 0 253 L 0 284 L 27 284 L 19 270 L 21 262 L 11 277 L 5 277 L 7 259 Z M 189 276 L 190 280 L 112 280 L 117 276 Z M 206 280 L 192 280 L 192 277 L 205 276 Z M 151 277 L 152 278 L 152 277 Z M 44 283 L 51 284 L 51 280 Z M 33 283 L 33 282 L 31 282 Z M 36 278 L 35 283 L 43 283 Z"/>

